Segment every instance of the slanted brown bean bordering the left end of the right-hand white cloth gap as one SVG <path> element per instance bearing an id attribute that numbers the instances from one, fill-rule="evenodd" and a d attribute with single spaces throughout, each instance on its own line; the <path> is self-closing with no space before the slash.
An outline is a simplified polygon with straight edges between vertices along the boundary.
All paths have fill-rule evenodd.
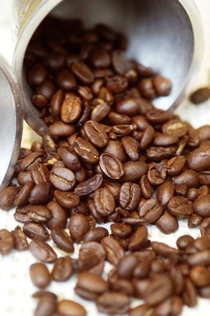
<path id="1" fill-rule="evenodd" d="M 128 249 L 131 251 L 141 249 L 148 240 L 148 231 L 145 226 L 137 228 L 135 233 L 130 237 Z"/>

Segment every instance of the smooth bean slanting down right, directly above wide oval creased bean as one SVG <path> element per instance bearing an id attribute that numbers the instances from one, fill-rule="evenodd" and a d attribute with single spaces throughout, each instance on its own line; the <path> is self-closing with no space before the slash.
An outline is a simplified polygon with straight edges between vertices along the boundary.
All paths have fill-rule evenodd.
<path id="1" fill-rule="evenodd" d="M 70 170 L 77 171 L 78 169 L 80 169 L 80 161 L 72 149 L 70 149 L 69 147 L 61 146 L 58 148 L 57 152 L 61 156 L 62 161 Z"/>

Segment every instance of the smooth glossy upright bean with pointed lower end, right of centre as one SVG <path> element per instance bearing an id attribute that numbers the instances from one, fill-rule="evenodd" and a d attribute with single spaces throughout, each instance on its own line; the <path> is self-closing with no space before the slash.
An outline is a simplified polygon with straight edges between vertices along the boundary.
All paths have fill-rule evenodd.
<path id="1" fill-rule="evenodd" d="M 174 196 L 175 193 L 175 185 L 166 180 L 163 184 L 161 184 L 157 189 L 157 200 L 163 208 L 166 208 L 168 201 L 171 197 Z"/>

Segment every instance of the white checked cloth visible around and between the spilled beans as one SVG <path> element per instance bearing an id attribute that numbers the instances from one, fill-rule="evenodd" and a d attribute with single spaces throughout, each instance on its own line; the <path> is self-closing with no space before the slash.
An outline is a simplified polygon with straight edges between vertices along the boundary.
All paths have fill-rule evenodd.
<path id="1" fill-rule="evenodd" d="M 196 0 L 201 16 L 204 22 L 205 33 L 205 52 L 203 64 L 199 72 L 198 80 L 195 84 L 195 88 L 199 88 L 204 85 L 209 85 L 209 70 L 210 70 L 210 1 L 209 0 Z M 11 61 L 11 43 L 8 42 L 8 14 L 4 15 L 3 8 L 9 12 L 10 1 L 0 0 L 0 41 L 4 43 L 1 45 L 1 53 Z M 210 100 L 202 105 L 192 105 L 188 100 L 184 101 L 177 109 L 176 113 L 184 120 L 189 122 L 195 127 L 201 125 L 210 124 Z M 22 145 L 30 148 L 31 140 L 37 136 L 31 131 L 27 125 L 24 128 L 23 143 Z M 37 137 L 39 138 L 39 137 Z M 13 213 L 14 210 L 0 211 L 0 228 L 6 228 L 13 230 L 19 223 L 15 222 Z M 21 225 L 20 225 L 21 226 Z M 109 228 L 106 224 L 104 227 Z M 200 235 L 199 228 L 189 229 L 187 227 L 187 220 L 181 219 L 179 221 L 179 230 L 171 235 L 162 234 L 155 226 L 148 226 L 149 238 L 152 241 L 162 241 L 170 246 L 175 246 L 176 239 L 183 234 L 191 234 L 193 237 Z M 50 241 L 52 244 L 52 241 Z M 58 256 L 63 254 L 56 250 Z M 76 253 L 78 253 L 78 246 L 76 247 Z M 37 291 L 33 286 L 29 278 L 29 266 L 36 262 L 36 259 L 31 255 L 29 251 L 16 252 L 12 251 L 7 256 L 0 257 L 0 315 L 1 316 L 32 316 L 33 310 L 36 306 L 36 301 L 31 299 L 30 296 Z M 49 270 L 52 270 L 52 264 L 48 264 Z M 107 264 L 105 271 L 109 271 L 110 264 Z M 53 291 L 58 295 L 59 299 L 71 299 L 78 303 L 81 303 L 87 308 L 88 316 L 97 316 L 97 310 L 94 303 L 90 303 L 82 300 L 74 293 L 75 276 L 64 283 L 51 282 L 47 290 Z M 133 301 L 132 306 L 135 307 L 140 301 Z M 199 298 L 198 306 L 195 308 L 184 307 L 182 316 L 202 316 L 210 314 L 210 301 Z"/>

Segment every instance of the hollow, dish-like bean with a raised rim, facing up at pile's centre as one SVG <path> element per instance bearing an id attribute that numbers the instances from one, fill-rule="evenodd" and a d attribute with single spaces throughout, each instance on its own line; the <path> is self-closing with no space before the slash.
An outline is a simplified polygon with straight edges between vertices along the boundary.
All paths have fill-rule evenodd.
<path id="1" fill-rule="evenodd" d="M 111 179 L 120 179 L 124 174 L 122 162 L 109 153 L 100 155 L 99 165 L 103 172 Z"/>

